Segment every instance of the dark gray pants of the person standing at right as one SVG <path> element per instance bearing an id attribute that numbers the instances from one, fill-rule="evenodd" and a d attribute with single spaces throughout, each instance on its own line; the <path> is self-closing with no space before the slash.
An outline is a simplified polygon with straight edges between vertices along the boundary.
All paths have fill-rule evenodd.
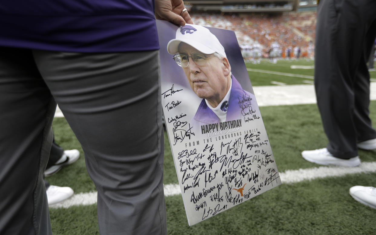
<path id="1" fill-rule="evenodd" d="M 315 89 L 327 149 L 349 159 L 356 143 L 376 138 L 369 118 L 367 68 L 376 36 L 376 1 L 321 0 L 317 9 Z"/>

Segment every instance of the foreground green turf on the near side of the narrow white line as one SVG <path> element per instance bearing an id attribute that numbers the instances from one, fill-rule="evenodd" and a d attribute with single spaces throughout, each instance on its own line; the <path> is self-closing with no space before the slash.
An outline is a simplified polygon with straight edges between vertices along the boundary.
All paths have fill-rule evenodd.
<path id="1" fill-rule="evenodd" d="M 371 185 L 376 174 L 282 184 L 194 226 L 181 196 L 166 197 L 167 234 L 375 234 L 376 210 L 348 193 Z M 99 234 L 96 205 L 50 209 L 54 234 Z"/>

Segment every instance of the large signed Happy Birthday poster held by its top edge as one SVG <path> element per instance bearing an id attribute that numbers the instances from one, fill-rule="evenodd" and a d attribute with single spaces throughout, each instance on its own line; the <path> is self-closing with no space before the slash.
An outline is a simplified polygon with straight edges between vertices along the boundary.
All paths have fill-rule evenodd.
<path id="1" fill-rule="evenodd" d="M 235 33 L 157 26 L 163 113 L 194 225 L 281 181 Z"/>

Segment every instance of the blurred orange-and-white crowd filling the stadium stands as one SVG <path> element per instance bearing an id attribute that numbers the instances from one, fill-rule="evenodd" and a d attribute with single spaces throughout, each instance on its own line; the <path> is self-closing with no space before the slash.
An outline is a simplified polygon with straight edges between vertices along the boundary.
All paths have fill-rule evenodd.
<path id="1" fill-rule="evenodd" d="M 194 24 L 235 31 L 245 59 L 313 58 L 316 15 L 191 13 Z"/>

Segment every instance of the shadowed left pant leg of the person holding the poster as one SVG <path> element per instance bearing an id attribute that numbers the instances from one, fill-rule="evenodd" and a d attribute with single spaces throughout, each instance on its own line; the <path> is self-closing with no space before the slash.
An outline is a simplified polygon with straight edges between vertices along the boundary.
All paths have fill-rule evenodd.
<path id="1" fill-rule="evenodd" d="M 52 234 L 43 173 L 56 103 L 33 61 L 0 48 L 0 234 Z"/>

